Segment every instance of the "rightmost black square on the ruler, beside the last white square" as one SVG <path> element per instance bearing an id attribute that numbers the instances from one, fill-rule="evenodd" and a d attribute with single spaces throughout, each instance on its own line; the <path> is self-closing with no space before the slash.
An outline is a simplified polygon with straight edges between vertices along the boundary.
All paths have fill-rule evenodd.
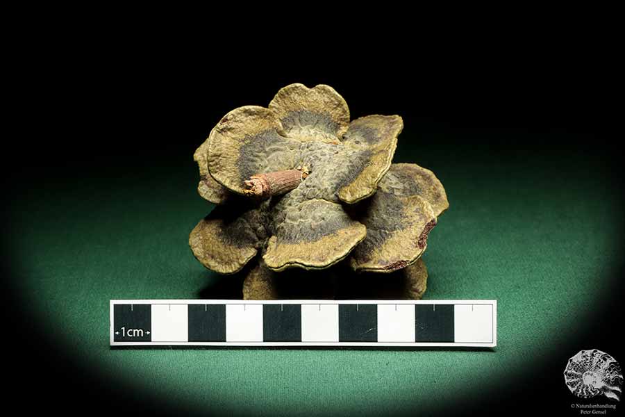
<path id="1" fill-rule="evenodd" d="M 453 342 L 453 304 L 416 304 L 415 341 Z"/>

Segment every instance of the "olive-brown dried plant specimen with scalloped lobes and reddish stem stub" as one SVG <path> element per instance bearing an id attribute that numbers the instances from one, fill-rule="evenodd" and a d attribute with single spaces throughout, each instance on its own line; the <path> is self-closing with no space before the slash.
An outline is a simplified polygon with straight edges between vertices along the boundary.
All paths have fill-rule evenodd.
<path id="1" fill-rule="evenodd" d="M 350 254 L 357 271 L 412 265 L 449 204 L 430 171 L 391 167 L 401 129 L 397 115 L 350 122 L 347 104 L 328 85 L 288 85 L 267 108 L 226 114 L 194 154 L 198 192 L 219 204 L 190 234 L 194 255 L 222 274 L 260 255 L 244 285 L 247 298 L 277 297 L 276 272 L 330 268 Z"/>

